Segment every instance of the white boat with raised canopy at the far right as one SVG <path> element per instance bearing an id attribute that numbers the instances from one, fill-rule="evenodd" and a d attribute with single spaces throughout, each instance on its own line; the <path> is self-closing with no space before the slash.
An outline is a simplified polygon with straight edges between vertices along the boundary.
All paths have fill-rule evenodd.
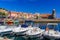
<path id="1" fill-rule="evenodd" d="M 53 29 L 50 29 L 49 25 L 53 25 L 54 26 Z M 58 27 L 57 25 L 58 25 L 57 23 L 48 23 L 47 27 L 46 27 L 46 30 L 43 33 L 44 37 L 50 38 L 50 39 L 60 39 L 59 28 L 57 28 L 57 30 L 54 30 L 56 27 Z"/>

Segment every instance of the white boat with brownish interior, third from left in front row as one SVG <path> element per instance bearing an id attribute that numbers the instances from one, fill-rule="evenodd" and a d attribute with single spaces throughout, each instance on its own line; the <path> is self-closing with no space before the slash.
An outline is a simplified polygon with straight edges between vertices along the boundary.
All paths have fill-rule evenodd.
<path id="1" fill-rule="evenodd" d="M 30 38 L 37 38 L 42 37 L 42 33 L 44 30 L 38 28 L 38 27 L 28 27 L 28 31 L 26 32 L 26 37 Z"/>

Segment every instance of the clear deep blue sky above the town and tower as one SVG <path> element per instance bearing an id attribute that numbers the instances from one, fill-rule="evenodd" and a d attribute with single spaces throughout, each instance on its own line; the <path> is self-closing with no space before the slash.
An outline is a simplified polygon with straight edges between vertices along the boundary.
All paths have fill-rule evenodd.
<path id="1" fill-rule="evenodd" d="M 60 18 L 60 0 L 0 0 L 0 8 L 40 14 L 52 14 L 52 9 L 56 9 L 56 17 Z"/>

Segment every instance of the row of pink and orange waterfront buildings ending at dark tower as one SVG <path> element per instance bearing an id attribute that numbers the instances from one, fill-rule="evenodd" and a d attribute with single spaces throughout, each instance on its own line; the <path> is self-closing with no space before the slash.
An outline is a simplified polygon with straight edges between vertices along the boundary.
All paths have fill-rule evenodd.
<path id="1" fill-rule="evenodd" d="M 55 9 L 52 10 L 52 14 L 40 14 L 40 13 L 25 13 L 25 12 L 15 12 L 15 11 L 6 11 L 5 9 L 0 9 L 1 13 L 5 13 L 7 18 L 12 19 L 54 19 L 56 17 Z"/>

